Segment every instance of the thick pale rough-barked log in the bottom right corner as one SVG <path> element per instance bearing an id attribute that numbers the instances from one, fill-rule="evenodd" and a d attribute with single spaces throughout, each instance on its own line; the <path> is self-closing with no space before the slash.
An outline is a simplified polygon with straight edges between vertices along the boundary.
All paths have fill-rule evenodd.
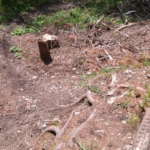
<path id="1" fill-rule="evenodd" d="M 133 144 L 133 150 L 148 150 L 150 145 L 150 108 L 146 109 L 146 114 L 137 132 Z"/>

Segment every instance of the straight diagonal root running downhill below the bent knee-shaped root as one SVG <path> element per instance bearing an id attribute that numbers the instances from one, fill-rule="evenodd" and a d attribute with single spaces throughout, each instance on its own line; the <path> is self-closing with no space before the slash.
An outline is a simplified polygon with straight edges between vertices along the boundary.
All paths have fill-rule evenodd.
<path id="1" fill-rule="evenodd" d="M 82 130 L 89 121 L 92 120 L 92 118 L 94 117 L 95 113 L 97 112 L 97 109 L 94 109 L 94 111 L 91 113 L 91 115 L 88 117 L 88 119 L 81 124 L 79 127 L 75 128 L 72 130 L 72 132 L 69 134 L 70 139 L 68 141 L 68 146 L 72 147 L 73 146 L 73 138 L 79 133 L 80 130 Z"/>

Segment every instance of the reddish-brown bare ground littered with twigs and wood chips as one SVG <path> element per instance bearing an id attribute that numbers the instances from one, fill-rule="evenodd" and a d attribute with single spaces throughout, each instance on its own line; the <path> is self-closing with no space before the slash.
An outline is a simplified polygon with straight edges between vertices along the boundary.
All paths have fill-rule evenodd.
<path id="1" fill-rule="evenodd" d="M 33 17 L 36 13 L 42 12 Z M 150 96 L 150 22 L 124 28 L 101 22 L 87 32 L 45 26 L 39 34 L 22 36 L 9 34 L 14 26 L 0 31 L 0 149 L 49 150 L 61 142 L 62 150 L 132 149 L 145 114 L 139 101 Z M 50 50 L 49 65 L 38 49 L 45 33 L 57 35 L 60 43 Z M 13 45 L 23 50 L 20 59 L 9 52 Z M 89 90 L 92 105 L 87 98 L 71 105 Z M 49 132 L 37 141 L 45 128 L 62 129 L 67 121 L 56 142 Z M 70 133 L 77 127 L 72 144 Z"/>

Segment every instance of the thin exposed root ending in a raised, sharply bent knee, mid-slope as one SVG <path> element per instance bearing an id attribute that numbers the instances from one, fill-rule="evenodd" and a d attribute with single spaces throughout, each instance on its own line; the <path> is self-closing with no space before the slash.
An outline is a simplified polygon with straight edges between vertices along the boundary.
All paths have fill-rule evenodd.
<path id="1" fill-rule="evenodd" d="M 82 95 L 77 101 L 75 101 L 74 103 L 69 104 L 69 105 L 57 105 L 57 106 L 60 107 L 60 108 L 65 108 L 65 107 L 73 106 L 73 105 L 75 105 L 75 104 L 81 102 L 81 101 L 82 101 L 83 99 L 85 99 L 86 97 L 88 98 L 88 102 L 89 102 L 91 105 L 93 105 L 95 100 L 94 100 L 94 99 L 92 98 L 92 96 L 91 96 L 91 91 L 87 91 L 86 94 L 83 94 L 83 95 Z"/>

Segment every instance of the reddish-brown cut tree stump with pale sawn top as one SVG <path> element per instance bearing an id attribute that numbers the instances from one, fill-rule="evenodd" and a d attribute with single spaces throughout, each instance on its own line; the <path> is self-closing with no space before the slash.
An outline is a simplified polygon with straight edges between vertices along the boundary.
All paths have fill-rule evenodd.
<path id="1" fill-rule="evenodd" d="M 50 64 L 52 58 L 50 56 L 50 49 L 59 46 L 58 38 L 55 35 L 45 34 L 38 40 L 39 52 L 42 61 L 45 64 Z"/>

